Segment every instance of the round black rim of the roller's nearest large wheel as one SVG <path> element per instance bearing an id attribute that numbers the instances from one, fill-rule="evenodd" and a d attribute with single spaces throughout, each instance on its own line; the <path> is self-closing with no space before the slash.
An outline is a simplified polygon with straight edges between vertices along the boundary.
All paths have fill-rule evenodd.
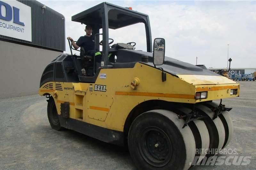
<path id="1" fill-rule="evenodd" d="M 167 134 L 158 127 L 147 127 L 139 138 L 139 151 L 148 164 L 165 166 L 172 159 L 172 143 Z"/>

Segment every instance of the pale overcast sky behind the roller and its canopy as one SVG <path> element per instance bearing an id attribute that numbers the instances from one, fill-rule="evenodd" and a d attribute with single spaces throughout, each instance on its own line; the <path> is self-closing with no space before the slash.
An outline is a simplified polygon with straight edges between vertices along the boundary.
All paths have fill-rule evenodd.
<path id="1" fill-rule="evenodd" d="M 71 16 L 103 1 L 40 1 L 65 16 L 66 37 L 83 36 L 84 25 Z M 165 39 L 165 55 L 206 67 L 256 68 L 256 2 L 251 1 L 108 1 L 149 15 L 152 39 Z M 146 50 L 144 24 L 110 30 L 117 42 L 137 43 Z M 66 52 L 70 53 L 68 42 Z"/>

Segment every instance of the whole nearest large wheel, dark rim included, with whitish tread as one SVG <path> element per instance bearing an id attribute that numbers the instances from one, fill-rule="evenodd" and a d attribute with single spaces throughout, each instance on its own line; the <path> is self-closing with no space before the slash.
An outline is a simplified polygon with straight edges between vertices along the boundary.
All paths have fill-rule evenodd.
<path id="1" fill-rule="evenodd" d="M 183 124 L 184 120 L 168 110 L 152 110 L 139 115 L 128 134 L 129 151 L 137 169 L 188 169 L 195 157 L 196 144 L 191 129 L 188 126 L 182 129 Z M 155 132 L 160 137 L 154 137 Z M 154 143 L 159 143 L 159 150 L 163 151 L 156 151 L 158 145 Z M 155 157 L 155 154 L 158 155 Z"/>

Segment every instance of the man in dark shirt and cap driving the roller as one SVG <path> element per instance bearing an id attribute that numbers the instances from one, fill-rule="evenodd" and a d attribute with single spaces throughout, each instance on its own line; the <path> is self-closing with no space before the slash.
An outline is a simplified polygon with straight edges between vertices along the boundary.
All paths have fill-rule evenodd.
<path id="1" fill-rule="evenodd" d="M 85 27 L 85 35 L 81 36 L 76 42 L 71 38 L 68 39 L 71 41 L 72 46 L 77 49 L 79 47 L 83 47 L 85 50 L 85 55 L 91 55 L 95 53 L 95 59 L 97 63 L 101 62 L 101 53 L 94 51 L 94 40 L 92 37 L 92 26 L 87 25 Z"/>

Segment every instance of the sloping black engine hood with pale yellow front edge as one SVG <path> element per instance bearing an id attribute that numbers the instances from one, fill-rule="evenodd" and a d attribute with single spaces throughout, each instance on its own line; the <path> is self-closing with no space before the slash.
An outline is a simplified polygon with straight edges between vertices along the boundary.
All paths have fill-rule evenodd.
<path id="1" fill-rule="evenodd" d="M 149 66 L 154 67 L 153 64 L 153 54 L 145 51 L 139 50 L 128 50 L 121 49 L 120 52 L 125 54 L 125 58 L 119 61 L 121 62 L 134 62 L 134 60 Z M 141 62 L 139 56 L 148 56 L 148 62 Z M 132 57 L 136 56 L 136 58 Z M 129 61 L 131 57 L 131 61 Z M 182 80 L 193 84 L 193 85 L 218 85 L 218 84 L 234 84 L 233 80 L 230 80 L 224 76 L 216 74 L 203 65 L 196 66 L 190 63 L 182 62 L 180 60 L 165 56 L 164 64 L 157 66 L 158 68 L 163 68 L 165 72 L 181 78 Z"/>

